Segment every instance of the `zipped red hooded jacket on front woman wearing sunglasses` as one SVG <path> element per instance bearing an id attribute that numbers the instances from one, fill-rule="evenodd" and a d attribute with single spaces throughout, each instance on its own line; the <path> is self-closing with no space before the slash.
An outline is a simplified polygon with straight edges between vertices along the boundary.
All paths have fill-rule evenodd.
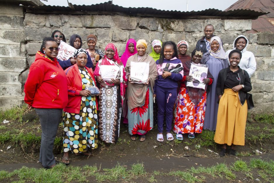
<path id="1" fill-rule="evenodd" d="M 67 78 L 57 59 L 46 58 L 38 51 L 29 68 L 25 83 L 25 103 L 34 108 L 64 108 L 67 106 Z"/>

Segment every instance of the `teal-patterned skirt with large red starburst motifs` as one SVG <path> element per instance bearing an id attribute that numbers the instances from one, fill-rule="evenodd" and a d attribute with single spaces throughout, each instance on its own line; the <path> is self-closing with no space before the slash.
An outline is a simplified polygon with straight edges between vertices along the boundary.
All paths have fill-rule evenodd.
<path id="1" fill-rule="evenodd" d="M 151 87 L 146 89 L 143 105 L 128 109 L 128 132 L 130 135 L 144 135 L 153 128 L 153 94 Z"/>

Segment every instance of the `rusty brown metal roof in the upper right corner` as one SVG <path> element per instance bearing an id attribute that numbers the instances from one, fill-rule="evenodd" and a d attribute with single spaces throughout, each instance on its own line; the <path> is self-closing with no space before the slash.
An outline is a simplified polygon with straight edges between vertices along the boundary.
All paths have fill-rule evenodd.
<path id="1" fill-rule="evenodd" d="M 256 32 L 274 32 L 274 0 L 239 0 L 225 11 L 246 9 L 260 12 L 269 12 L 252 20 L 252 30 Z"/>

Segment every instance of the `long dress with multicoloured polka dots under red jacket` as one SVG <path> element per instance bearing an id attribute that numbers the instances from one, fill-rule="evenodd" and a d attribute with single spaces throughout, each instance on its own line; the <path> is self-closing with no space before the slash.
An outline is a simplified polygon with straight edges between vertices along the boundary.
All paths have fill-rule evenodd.
<path id="1" fill-rule="evenodd" d="M 83 89 L 86 84 L 95 86 L 90 74 L 79 69 Z M 96 149 L 98 143 L 98 117 L 95 96 L 82 96 L 80 113 L 64 113 L 63 127 L 64 152 L 71 150 L 74 153 L 83 153 L 88 149 Z"/>

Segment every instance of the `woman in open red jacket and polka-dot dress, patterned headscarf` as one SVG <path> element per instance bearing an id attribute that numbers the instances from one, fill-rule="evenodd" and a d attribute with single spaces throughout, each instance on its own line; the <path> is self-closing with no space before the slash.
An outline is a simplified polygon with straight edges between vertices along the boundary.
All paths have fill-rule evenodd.
<path id="1" fill-rule="evenodd" d="M 86 67 L 88 53 L 78 49 L 74 54 L 76 64 L 67 68 L 69 102 L 64 108 L 64 156 L 62 162 L 69 164 L 69 151 L 87 155 L 89 149 L 97 148 L 98 118 L 97 99 L 86 87 L 96 86 L 92 69 Z M 99 90 L 98 90 L 99 91 Z"/>

